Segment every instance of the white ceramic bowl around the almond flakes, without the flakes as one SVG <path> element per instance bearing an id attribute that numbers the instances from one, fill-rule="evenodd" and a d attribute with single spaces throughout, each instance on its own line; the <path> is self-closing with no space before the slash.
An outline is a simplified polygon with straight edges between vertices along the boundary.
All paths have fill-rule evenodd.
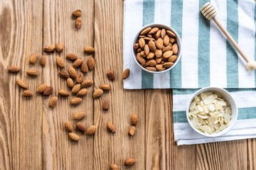
<path id="1" fill-rule="evenodd" d="M 230 107 L 231 107 L 231 110 L 232 110 L 232 114 L 231 114 L 232 117 L 231 117 L 231 120 L 230 120 L 230 125 L 227 128 L 225 128 L 224 130 L 220 131 L 220 132 L 217 132 L 215 134 L 209 134 L 209 135 L 204 133 L 204 132 L 201 132 L 198 129 L 196 129 L 193 126 L 193 123 L 191 122 L 191 120 L 188 117 L 189 106 L 191 105 L 191 102 L 193 101 L 193 98 L 198 96 L 198 94 L 201 94 L 201 93 L 206 92 L 206 91 L 213 91 L 213 92 L 216 91 L 216 92 L 219 92 L 223 96 L 223 98 L 225 98 L 225 100 L 230 103 Z M 203 136 L 206 136 L 206 137 L 218 137 L 220 135 L 225 134 L 231 128 L 233 128 L 233 125 L 235 124 L 235 121 L 238 119 L 238 107 L 237 107 L 237 105 L 235 103 L 234 98 L 231 96 L 231 94 L 228 91 L 226 91 L 225 89 L 222 89 L 222 88 L 208 86 L 208 87 L 205 87 L 203 89 L 200 89 L 200 90 L 196 91 L 196 93 L 193 94 L 191 99 L 188 101 L 188 106 L 186 107 L 186 118 L 188 120 L 189 125 L 191 125 L 191 128 L 193 128 L 193 130 L 198 132 L 200 135 L 203 135 Z"/>

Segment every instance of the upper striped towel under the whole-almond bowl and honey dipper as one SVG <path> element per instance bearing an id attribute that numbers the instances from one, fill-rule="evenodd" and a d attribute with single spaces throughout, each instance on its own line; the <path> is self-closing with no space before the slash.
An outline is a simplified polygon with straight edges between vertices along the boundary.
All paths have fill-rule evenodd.
<path id="1" fill-rule="evenodd" d="M 124 69 L 130 77 L 124 89 L 198 89 L 205 86 L 255 88 L 256 72 L 245 63 L 230 42 L 208 21 L 200 7 L 208 0 L 125 0 Z M 250 60 L 256 58 L 255 1 L 213 0 L 216 18 L 230 32 Z M 164 23 L 181 36 L 182 56 L 176 67 L 164 74 L 142 71 L 132 57 L 132 39 L 149 23 Z"/>

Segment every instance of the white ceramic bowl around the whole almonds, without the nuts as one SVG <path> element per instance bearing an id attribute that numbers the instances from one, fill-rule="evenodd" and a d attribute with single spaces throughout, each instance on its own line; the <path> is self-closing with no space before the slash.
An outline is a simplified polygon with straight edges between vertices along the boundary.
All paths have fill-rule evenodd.
<path id="1" fill-rule="evenodd" d="M 145 69 L 144 67 L 142 67 L 141 64 L 139 64 L 139 62 L 137 61 L 136 53 L 134 52 L 134 44 L 136 43 L 136 41 L 138 39 L 138 36 L 142 32 L 142 30 L 144 30 L 147 27 L 151 27 L 151 28 L 154 28 L 154 27 L 165 28 L 166 30 L 171 30 L 171 32 L 173 32 L 176 35 L 176 43 L 178 45 L 178 55 L 177 55 L 178 58 L 177 58 L 176 62 L 174 62 L 174 65 L 172 67 L 170 67 L 168 69 L 165 69 L 164 71 L 161 71 L 161 72 L 152 72 L 152 71 L 149 71 L 148 69 Z M 153 73 L 153 74 L 169 72 L 171 69 L 173 69 L 176 66 L 178 61 L 181 59 L 181 38 L 178 36 L 178 33 L 176 33 L 174 28 L 171 28 L 171 27 L 166 26 L 166 25 L 161 24 L 161 23 L 151 23 L 149 25 L 146 25 L 146 26 L 142 27 L 140 30 L 138 30 L 137 34 L 134 36 L 134 39 L 132 40 L 132 56 L 133 56 L 135 62 L 138 64 L 138 66 L 141 69 L 143 69 L 145 72 L 150 72 L 150 73 Z"/>

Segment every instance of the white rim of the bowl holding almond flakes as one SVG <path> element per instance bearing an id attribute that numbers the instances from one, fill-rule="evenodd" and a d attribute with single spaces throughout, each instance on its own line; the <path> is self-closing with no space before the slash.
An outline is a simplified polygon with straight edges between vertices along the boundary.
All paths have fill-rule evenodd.
<path id="1" fill-rule="evenodd" d="M 218 132 L 218 133 L 215 133 L 215 134 L 206 134 L 206 133 L 204 133 L 204 132 L 201 132 L 201 131 L 199 131 L 198 129 L 196 129 L 193 125 L 192 125 L 192 123 L 191 123 L 191 120 L 189 119 L 189 117 L 188 117 L 188 112 L 189 112 L 189 106 L 190 106 L 190 104 L 191 104 L 191 102 L 193 101 L 193 98 L 195 98 L 196 96 L 198 96 L 198 94 L 201 94 L 201 93 L 203 93 L 203 92 L 205 92 L 205 91 L 215 91 L 214 89 L 218 89 L 218 91 L 221 91 L 221 93 L 220 94 L 226 94 L 227 96 L 230 96 L 230 99 L 233 101 L 233 103 L 234 103 L 234 108 L 235 108 L 235 111 L 233 111 L 232 110 L 232 118 L 231 119 L 233 119 L 233 123 L 230 123 L 230 125 L 227 127 L 227 128 L 225 128 L 224 130 L 222 130 L 222 131 L 220 131 L 220 132 Z M 216 90 L 217 91 L 217 90 Z M 226 99 L 226 98 L 225 98 Z M 226 99 L 227 100 L 227 99 Z M 229 101 L 230 102 L 230 101 Z M 196 91 L 192 96 L 191 96 L 191 98 L 189 99 L 189 101 L 188 101 L 188 104 L 187 104 L 187 106 L 186 106 L 186 118 L 187 118 L 187 120 L 188 120 L 188 124 L 191 126 L 191 128 L 193 129 L 193 130 L 195 130 L 196 132 L 198 132 L 198 134 L 200 134 L 200 135 L 203 135 L 203 136 L 206 136 L 206 137 L 219 137 L 219 136 L 221 136 L 221 135 L 224 135 L 226 132 L 228 132 L 228 131 L 230 131 L 230 129 L 232 129 L 233 128 L 233 126 L 235 125 L 235 122 L 236 122 L 236 120 L 238 120 L 238 106 L 237 106 L 237 103 L 235 102 L 235 99 L 233 98 L 233 96 L 230 94 L 230 92 L 228 92 L 227 90 L 225 90 L 225 89 L 223 89 L 223 88 L 221 88 L 221 87 L 217 87 L 217 86 L 207 86 L 207 87 L 204 87 L 204 88 L 202 88 L 202 89 L 199 89 L 198 91 Z"/>

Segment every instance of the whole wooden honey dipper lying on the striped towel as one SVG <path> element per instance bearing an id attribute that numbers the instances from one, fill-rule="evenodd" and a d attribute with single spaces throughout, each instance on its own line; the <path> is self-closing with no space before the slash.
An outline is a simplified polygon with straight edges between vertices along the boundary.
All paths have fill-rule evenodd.
<path id="1" fill-rule="evenodd" d="M 242 52 L 242 49 L 238 46 L 238 43 L 235 42 L 234 38 L 230 35 L 230 33 L 228 33 L 228 30 L 226 30 L 220 24 L 220 22 L 215 18 L 215 16 L 217 15 L 217 11 L 216 11 L 215 7 L 212 4 L 210 4 L 210 2 L 207 2 L 206 4 L 201 6 L 201 13 L 203 13 L 203 16 L 205 16 L 208 20 L 213 19 L 213 21 L 218 26 L 218 28 L 220 28 L 220 30 L 225 34 L 225 36 L 228 38 L 228 40 L 230 40 L 232 45 L 235 47 L 235 49 L 239 52 L 239 54 L 245 60 L 245 62 L 247 63 L 246 68 L 248 70 L 256 69 L 256 62 L 248 60 L 248 57 L 246 57 L 245 53 Z"/>

